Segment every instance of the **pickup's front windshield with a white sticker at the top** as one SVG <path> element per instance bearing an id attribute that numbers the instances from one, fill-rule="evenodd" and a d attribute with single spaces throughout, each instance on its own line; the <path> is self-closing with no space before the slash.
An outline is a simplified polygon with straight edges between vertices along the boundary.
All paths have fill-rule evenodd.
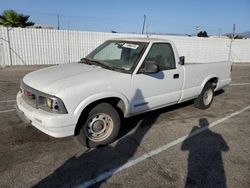
<path id="1" fill-rule="evenodd" d="M 112 70 L 131 73 L 146 49 L 145 42 L 106 41 L 86 58 Z M 105 67 L 104 67 L 105 68 Z"/>

